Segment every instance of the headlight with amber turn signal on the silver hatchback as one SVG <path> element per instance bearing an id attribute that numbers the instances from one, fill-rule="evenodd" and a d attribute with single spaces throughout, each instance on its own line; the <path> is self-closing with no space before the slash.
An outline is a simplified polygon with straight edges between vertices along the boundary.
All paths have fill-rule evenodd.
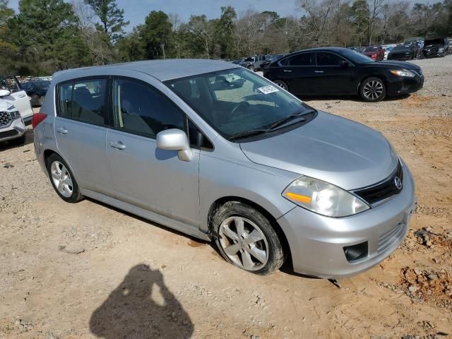
<path id="1" fill-rule="evenodd" d="M 361 199 L 338 186 L 311 177 L 300 177 L 283 191 L 298 206 L 327 217 L 345 217 L 368 210 Z"/>

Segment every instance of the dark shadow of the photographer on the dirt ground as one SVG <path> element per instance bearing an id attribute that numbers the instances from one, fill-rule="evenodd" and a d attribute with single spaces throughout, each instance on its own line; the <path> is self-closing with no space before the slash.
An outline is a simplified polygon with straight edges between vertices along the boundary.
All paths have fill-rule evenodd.
<path id="1" fill-rule="evenodd" d="M 160 270 L 140 264 L 96 309 L 90 331 L 99 338 L 190 338 L 193 323 L 168 290 Z"/>

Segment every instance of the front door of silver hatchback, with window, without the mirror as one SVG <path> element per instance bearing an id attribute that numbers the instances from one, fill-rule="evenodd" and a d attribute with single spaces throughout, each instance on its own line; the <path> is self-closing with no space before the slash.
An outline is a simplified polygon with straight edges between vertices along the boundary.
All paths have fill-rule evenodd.
<path id="1" fill-rule="evenodd" d="M 116 78 L 112 87 L 114 128 L 106 148 L 117 198 L 197 228 L 199 150 L 182 161 L 155 141 L 165 129 L 185 131 L 185 114 L 148 83 Z"/>

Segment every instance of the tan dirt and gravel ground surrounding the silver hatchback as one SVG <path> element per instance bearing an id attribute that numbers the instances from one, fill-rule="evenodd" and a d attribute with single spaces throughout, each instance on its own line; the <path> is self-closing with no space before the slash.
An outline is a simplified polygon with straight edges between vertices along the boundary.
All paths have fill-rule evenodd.
<path id="1" fill-rule="evenodd" d="M 210 244 L 64 203 L 31 130 L 25 146 L 0 145 L 0 338 L 452 338 L 452 56 L 415 62 L 416 95 L 307 100 L 381 131 L 417 185 L 404 244 L 341 288 L 245 273 Z"/>

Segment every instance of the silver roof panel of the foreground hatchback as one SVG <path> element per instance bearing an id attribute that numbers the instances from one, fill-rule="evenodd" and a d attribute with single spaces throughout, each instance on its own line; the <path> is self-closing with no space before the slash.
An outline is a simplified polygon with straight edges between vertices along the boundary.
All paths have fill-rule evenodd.
<path id="1" fill-rule="evenodd" d="M 108 75 L 109 71 L 114 69 L 131 70 L 146 73 L 160 81 L 167 81 L 177 78 L 184 78 L 186 76 L 196 76 L 198 74 L 210 73 L 215 71 L 222 71 L 225 69 L 234 69 L 239 66 L 234 66 L 225 61 L 215 61 L 208 59 L 165 59 L 165 60 L 144 60 L 126 62 L 123 64 L 110 64 L 105 66 L 83 67 L 81 69 L 68 69 L 54 73 L 57 81 L 64 81 L 76 78 L 77 73 L 96 70 Z"/>

